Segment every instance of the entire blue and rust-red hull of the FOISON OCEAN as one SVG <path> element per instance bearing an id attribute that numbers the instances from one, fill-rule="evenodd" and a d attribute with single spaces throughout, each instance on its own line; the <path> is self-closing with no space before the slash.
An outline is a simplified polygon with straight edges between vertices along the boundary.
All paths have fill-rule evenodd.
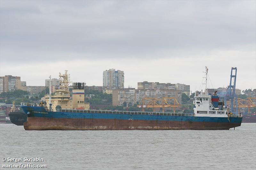
<path id="1" fill-rule="evenodd" d="M 194 117 L 193 114 L 173 116 L 162 113 L 125 112 L 95 113 L 46 111 L 44 107 L 21 106 L 29 113 L 26 130 L 217 130 L 241 125 L 242 117 Z M 106 112 L 106 111 L 105 111 Z M 120 111 L 118 111 L 120 112 Z M 145 114 L 144 114 L 145 113 Z"/>

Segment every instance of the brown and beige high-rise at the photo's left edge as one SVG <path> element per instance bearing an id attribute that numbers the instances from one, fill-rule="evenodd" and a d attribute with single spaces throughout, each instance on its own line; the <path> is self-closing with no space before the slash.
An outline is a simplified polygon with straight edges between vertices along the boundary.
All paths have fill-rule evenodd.
<path id="1" fill-rule="evenodd" d="M 20 89 L 20 77 L 5 75 L 0 77 L 0 93 Z"/>

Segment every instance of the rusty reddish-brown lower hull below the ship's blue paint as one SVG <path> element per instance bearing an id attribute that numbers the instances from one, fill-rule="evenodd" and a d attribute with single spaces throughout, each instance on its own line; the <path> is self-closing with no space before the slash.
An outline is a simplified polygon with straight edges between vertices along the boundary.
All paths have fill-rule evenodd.
<path id="1" fill-rule="evenodd" d="M 228 130 L 235 123 L 28 117 L 25 130 Z"/>

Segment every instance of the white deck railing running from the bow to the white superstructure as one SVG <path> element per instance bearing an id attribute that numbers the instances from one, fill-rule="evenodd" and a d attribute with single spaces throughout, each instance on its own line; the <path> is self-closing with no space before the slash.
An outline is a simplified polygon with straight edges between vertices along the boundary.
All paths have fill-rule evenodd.
<path id="1" fill-rule="evenodd" d="M 44 107 L 44 104 L 20 103 L 21 106 Z M 120 111 L 120 110 L 80 110 L 80 109 L 46 109 L 53 112 L 78 112 L 78 113 L 111 113 L 129 115 L 167 115 L 167 116 L 194 116 L 193 113 L 167 113 L 167 112 L 141 112 L 141 111 Z"/>

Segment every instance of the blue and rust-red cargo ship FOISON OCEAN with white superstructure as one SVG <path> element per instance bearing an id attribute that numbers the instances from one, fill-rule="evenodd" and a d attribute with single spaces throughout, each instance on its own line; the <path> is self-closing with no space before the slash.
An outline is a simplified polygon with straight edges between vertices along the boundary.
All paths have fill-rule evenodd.
<path id="1" fill-rule="evenodd" d="M 228 113 L 216 93 L 201 92 L 195 96 L 194 105 L 194 113 L 167 113 L 70 109 L 60 105 L 52 108 L 51 102 L 20 103 L 28 116 L 25 130 L 228 130 L 241 125 L 243 115 Z"/>

